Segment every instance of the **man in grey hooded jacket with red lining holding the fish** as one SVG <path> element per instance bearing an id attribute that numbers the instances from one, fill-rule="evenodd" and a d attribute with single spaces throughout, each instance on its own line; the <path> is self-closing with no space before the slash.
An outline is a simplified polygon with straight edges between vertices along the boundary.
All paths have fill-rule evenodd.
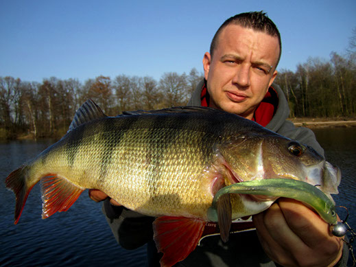
<path id="1" fill-rule="evenodd" d="M 324 154 L 306 128 L 285 121 L 289 108 L 281 89 L 273 85 L 281 57 L 281 38 L 263 12 L 238 14 L 217 31 L 210 53 L 204 54 L 204 80 L 189 101 L 192 106 L 211 106 L 307 143 Z M 92 190 L 93 200 L 107 196 Z M 114 200 L 110 200 L 114 205 Z M 149 263 L 158 264 L 152 241 L 152 218 L 104 203 L 104 213 L 126 248 L 148 242 Z M 253 216 L 257 231 L 230 235 L 225 244 L 217 236 L 206 237 L 178 266 L 334 266 L 342 258 L 342 240 L 329 233 L 329 225 L 295 200 L 281 198 L 267 211 Z M 342 258 L 341 262 L 340 259 Z M 273 261 L 273 262 L 272 262 Z"/>

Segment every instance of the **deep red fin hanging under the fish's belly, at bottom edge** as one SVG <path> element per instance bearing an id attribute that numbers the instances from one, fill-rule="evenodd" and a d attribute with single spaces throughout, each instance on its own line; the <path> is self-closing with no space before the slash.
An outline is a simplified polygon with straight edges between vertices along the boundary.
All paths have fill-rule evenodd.
<path id="1" fill-rule="evenodd" d="M 154 220 L 154 242 L 163 253 L 161 266 L 173 266 L 197 246 L 205 227 L 203 220 L 163 216 Z"/>

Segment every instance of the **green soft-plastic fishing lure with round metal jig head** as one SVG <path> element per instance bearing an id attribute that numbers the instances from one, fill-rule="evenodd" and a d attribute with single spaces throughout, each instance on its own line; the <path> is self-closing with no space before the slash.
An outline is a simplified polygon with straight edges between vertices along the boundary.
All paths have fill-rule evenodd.
<path id="1" fill-rule="evenodd" d="M 228 209 L 226 202 L 229 202 L 230 198 L 226 198 L 226 196 L 229 196 L 229 194 L 251 194 L 285 197 L 293 198 L 300 202 L 306 203 L 315 209 L 315 211 L 325 222 L 330 224 L 330 231 L 333 235 L 337 237 L 343 237 L 346 235 L 346 233 L 351 235 L 348 241 L 344 239 L 343 241 L 348 246 L 351 258 L 353 260 L 353 266 L 355 266 L 356 259 L 355 255 L 353 254 L 352 243 L 355 240 L 356 233 L 346 222 L 348 219 L 348 210 L 346 207 L 343 207 L 347 211 L 346 218 L 340 222 L 337 222 L 334 202 L 320 189 L 318 189 L 318 187 L 298 180 L 271 178 L 235 183 L 233 185 L 228 185 L 222 189 L 219 189 L 213 198 L 211 207 L 208 210 L 208 218 L 210 220 L 217 220 L 219 222 L 219 227 L 220 224 L 223 225 L 223 227 L 220 227 L 223 240 L 227 240 L 228 230 L 226 229 L 230 229 L 230 225 L 226 225 L 226 221 L 228 221 L 228 216 L 231 213 L 226 211 L 222 212 L 222 210 L 226 209 L 226 207 Z M 222 207 L 221 202 L 224 202 L 224 207 Z"/>

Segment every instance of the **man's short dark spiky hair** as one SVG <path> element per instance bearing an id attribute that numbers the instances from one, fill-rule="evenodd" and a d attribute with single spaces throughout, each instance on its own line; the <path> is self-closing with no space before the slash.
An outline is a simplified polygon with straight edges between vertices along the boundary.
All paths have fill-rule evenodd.
<path id="1" fill-rule="evenodd" d="M 213 57 L 214 49 L 217 45 L 217 40 L 219 38 L 220 33 L 222 32 L 222 30 L 224 30 L 224 28 L 227 25 L 230 24 L 240 25 L 241 27 L 246 27 L 246 28 L 252 28 L 253 30 L 259 32 L 265 32 L 270 36 L 277 37 L 279 43 L 279 56 L 277 61 L 277 65 L 278 65 L 278 62 L 282 54 L 281 34 L 279 34 L 278 29 L 274 24 L 274 22 L 270 18 L 268 18 L 267 14 L 263 11 L 237 14 L 235 16 L 230 17 L 230 19 L 227 19 L 224 23 L 222 23 L 222 25 L 215 33 L 213 40 L 211 41 L 211 45 L 210 45 L 211 57 Z"/>

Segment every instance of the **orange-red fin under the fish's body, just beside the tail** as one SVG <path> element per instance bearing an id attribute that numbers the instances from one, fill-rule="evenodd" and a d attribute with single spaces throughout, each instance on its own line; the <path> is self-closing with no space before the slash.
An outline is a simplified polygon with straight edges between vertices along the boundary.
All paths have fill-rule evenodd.
<path id="1" fill-rule="evenodd" d="M 67 179 L 48 174 L 41 179 L 42 218 L 48 218 L 57 211 L 67 211 L 79 198 L 83 188 L 73 185 Z"/>

